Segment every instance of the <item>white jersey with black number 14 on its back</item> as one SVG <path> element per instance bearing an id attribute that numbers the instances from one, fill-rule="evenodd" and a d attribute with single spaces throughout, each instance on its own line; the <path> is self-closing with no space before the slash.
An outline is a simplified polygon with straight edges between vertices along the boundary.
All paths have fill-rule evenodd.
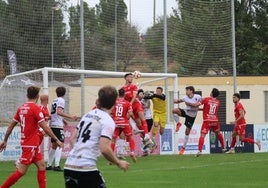
<path id="1" fill-rule="evenodd" d="M 100 109 L 85 114 L 77 125 L 78 135 L 73 149 L 66 160 L 66 166 L 95 166 L 100 155 L 100 137 L 112 138 L 115 124 L 111 116 Z"/>

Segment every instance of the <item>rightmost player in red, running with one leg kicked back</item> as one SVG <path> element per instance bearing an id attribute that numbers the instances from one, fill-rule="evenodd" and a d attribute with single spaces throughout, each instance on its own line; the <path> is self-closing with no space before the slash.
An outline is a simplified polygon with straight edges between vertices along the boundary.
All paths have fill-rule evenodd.
<path id="1" fill-rule="evenodd" d="M 246 111 L 240 102 L 240 94 L 235 93 L 233 94 L 233 103 L 235 105 L 234 109 L 234 115 L 235 115 L 235 120 L 231 121 L 230 124 L 235 124 L 233 134 L 232 134 L 232 142 L 231 142 L 231 149 L 227 151 L 226 153 L 235 153 L 235 143 L 236 143 L 236 136 L 239 136 L 239 140 L 241 142 L 246 142 L 250 144 L 256 144 L 259 148 L 261 149 L 261 143 L 260 141 L 254 141 L 251 138 L 245 138 L 246 135 L 246 119 L 245 119 L 245 114 Z"/>

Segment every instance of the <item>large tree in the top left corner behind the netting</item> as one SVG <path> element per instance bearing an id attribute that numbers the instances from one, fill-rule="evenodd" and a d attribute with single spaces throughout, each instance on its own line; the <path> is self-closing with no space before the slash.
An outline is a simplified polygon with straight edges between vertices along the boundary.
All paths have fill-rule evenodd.
<path id="1" fill-rule="evenodd" d="M 60 3 L 62 3 L 61 1 Z M 14 50 L 21 71 L 51 65 L 51 11 L 55 1 L 1 1 L 1 22 L 4 25 L 0 40 L 3 41 L 1 56 Z M 61 49 L 64 24 L 61 11 L 55 12 L 55 50 Z M 2 28 L 2 27 L 1 27 Z M 57 59 L 55 52 L 55 62 Z"/>

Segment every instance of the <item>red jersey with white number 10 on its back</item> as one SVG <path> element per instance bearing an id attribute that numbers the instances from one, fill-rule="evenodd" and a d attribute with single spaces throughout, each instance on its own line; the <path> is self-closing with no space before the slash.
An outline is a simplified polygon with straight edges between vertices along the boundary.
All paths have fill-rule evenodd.
<path id="1" fill-rule="evenodd" d="M 213 97 L 206 97 L 202 101 L 203 104 L 203 121 L 218 121 L 218 111 L 220 101 Z"/>

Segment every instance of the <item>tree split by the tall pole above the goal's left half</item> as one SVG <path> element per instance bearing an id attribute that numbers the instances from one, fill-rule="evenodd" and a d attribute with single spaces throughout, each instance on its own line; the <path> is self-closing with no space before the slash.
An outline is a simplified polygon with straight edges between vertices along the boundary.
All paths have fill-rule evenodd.
<path id="1" fill-rule="evenodd" d="M 80 5 L 69 8 L 69 37 L 65 43 L 67 64 L 74 68 L 80 67 Z M 96 62 L 103 60 L 103 51 L 98 42 L 99 34 L 98 19 L 95 8 L 89 8 L 84 2 L 84 47 L 85 47 L 85 68 L 101 69 Z"/>

